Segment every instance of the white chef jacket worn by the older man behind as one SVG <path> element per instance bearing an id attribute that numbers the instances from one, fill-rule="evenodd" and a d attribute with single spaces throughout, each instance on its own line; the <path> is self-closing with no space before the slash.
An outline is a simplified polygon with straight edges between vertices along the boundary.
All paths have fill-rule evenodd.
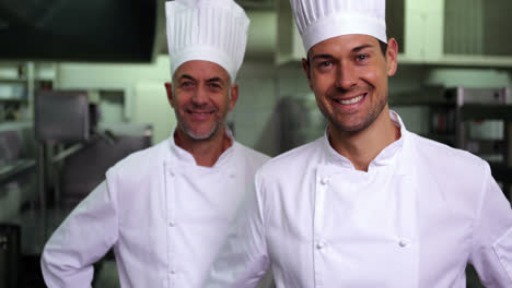
<path id="1" fill-rule="evenodd" d="M 91 287 L 92 264 L 112 247 L 123 287 L 201 287 L 268 159 L 232 143 L 213 167 L 197 166 L 174 137 L 116 164 L 47 242 L 48 287 Z"/>

